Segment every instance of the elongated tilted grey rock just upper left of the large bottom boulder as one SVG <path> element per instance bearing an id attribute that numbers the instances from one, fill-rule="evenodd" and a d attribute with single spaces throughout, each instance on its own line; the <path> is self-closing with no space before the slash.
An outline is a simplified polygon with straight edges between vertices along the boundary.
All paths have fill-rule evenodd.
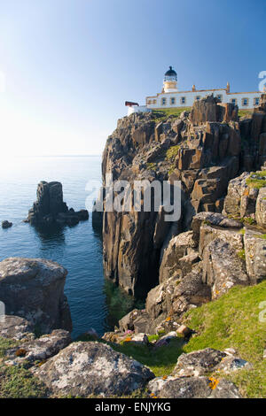
<path id="1" fill-rule="evenodd" d="M 55 329 L 49 335 L 43 335 L 5 351 L 5 355 L 9 358 L 7 364 L 15 366 L 27 361 L 27 366 L 33 366 L 36 361 L 43 362 L 58 354 L 69 343 L 71 343 L 69 332 Z"/>

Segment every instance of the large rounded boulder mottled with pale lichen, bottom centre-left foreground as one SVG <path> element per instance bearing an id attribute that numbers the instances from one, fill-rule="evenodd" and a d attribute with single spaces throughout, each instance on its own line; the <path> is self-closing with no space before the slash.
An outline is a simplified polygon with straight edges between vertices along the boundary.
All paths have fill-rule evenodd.
<path id="1" fill-rule="evenodd" d="M 52 391 L 73 397 L 129 395 L 154 374 L 104 343 L 72 343 L 34 370 Z"/>

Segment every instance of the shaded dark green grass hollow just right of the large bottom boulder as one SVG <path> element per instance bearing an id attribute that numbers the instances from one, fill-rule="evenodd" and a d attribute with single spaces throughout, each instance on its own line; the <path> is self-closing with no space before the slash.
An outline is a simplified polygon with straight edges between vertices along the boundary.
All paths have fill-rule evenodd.
<path id="1" fill-rule="evenodd" d="M 113 350 L 122 352 L 148 366 L 159 377 L 170 374 L 176 366 L 177 358 L 183 352 L 183 338 L 176 338 L 166 346 L 152 349 L 146 345 L 133 343 L 111 344 Z"/>

